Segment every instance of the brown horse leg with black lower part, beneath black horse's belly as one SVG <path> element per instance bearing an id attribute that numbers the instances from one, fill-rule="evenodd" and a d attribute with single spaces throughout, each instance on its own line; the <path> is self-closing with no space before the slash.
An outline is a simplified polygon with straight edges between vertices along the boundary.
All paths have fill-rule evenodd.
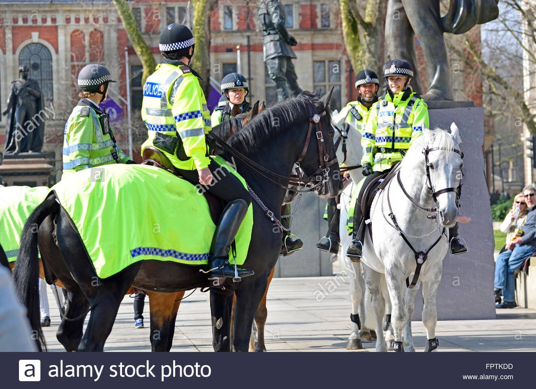
<path id="1" fill-rule="evenodd" d="M 184 292 L 158 293 L 147 291 L 151 318 L 151 351 L 168 352 L 173 345 L 175 320 Z"/>

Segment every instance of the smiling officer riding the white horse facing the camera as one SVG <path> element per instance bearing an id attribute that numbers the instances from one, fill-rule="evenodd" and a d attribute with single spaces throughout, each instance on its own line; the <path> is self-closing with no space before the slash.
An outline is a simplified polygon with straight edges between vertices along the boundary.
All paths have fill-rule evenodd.
<path id="1" fill-rule="evenodd" d="M 367 126 L 361 139 L 363 157 L 361 165 L 363 176 L 367 176 L 361 187 L 354 208 L 353 240 L 346 251 L 351 260 L 362 255 L 362 239 L 358 239 L 358 229 L 363 215 L 361 201 L 364 190 L 376 177 L 391 170 L 392 166 L 406 154 L 412 141 L 422 135 L 422 128 L 429 128 L 428 106 L 422 97 L 412 91 L 410 82 L 413 68 L 403 59 L 388 62 L 383 70 L 383 77 L 388 84 L 387 93 L 371 108 Z M 467 248 L 458 238 L 458 225 L 450 228 L 450 251 L 461 254 Z M 364 228 L 362 228 L 363 235 Z"/>

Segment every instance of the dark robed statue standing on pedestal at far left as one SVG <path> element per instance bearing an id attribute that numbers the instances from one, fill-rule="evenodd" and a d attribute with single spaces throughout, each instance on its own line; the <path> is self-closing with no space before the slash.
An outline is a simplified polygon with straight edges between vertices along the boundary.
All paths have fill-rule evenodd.
<path id="1" fill-rule="evenodd" d="M 39 83 L 28 74 L 28 66 L 20 66 L 20 78 L 11 82 L 8 108 L 2 112 L 3 116 L 9 114 L 4 154 L 39 152 L 43 147 L 44 119 L 39 114 L 43 98 Z"/>

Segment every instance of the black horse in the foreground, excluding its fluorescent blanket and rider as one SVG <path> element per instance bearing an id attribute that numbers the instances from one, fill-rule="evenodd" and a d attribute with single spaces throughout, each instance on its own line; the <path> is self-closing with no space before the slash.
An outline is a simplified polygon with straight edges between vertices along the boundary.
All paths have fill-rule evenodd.
<path id="1" fill-rule="evenodd" d="M 271 173 L 267 180 L 250 162 L 236 158 L 237 170 L 258 197 L 254 202 L 254 227 L 244 268 L 255 275 L 241 283 L 225 284 L 226 289 L 211 290 L 213 347 L 231 349 L 230 316 L 236 295 L 232 349 L 247 351 L 254 315 L 266 290 L 267 277 L 275 265 L 281 246 L 281 232 L 274 223 L 280 218 L 280 206 L 294 163 L 300 161 L 303 172 L 317 178 L 317 192 L 323 197 L 337 195 L 340 179 L 333 148 L 333 128 L 329 112 L 331 95 L 318 98 L 304 93 L 264 110 L 243 131 L 229 139 L 229 145 Z M 235 155 L 236 156 L 236 155 Z M 228 160 L 230 156 L 227 155 Z M 128 194 L 129 188 L 124 188 Z M 273 212 L 273 219 L 266 217 Z M 271 214 L 270 214 L 271 215 Z M 35 233 L 39 226 L 38 233 Z M 117 228 L 126 228 L 117 223 Z M 131 227 L 131 226 L 129 226 Z M 56 245 L 57 241 L 57 245 Z M 68 350 L 102 351 L 115 321 L 118 306 L 130 285 L 156 292 L 178 292 L 211 286 L 199 266 L 144 260 L 128 266 L 106 279 L 96 277 L 71 220 L 54 195 L 45 200 L 29 217 L 21 239 L 14 271 L 17 291 L 28 308 L 34 330 L 39 330 L 35 312 L 39 309 L 37 292 L 37 244 L 41 250 L 48 280 L 59 279 L 68 289 L 67 320 L 58 328 L 58 340 Z M 54 261 L 51 258 L 56 258 Z M 58 261 L 57 258 L 62 258 Z M 206 266 L 205 266 L 206 267 Z M 91 311 L 86 331 L 84 318 Z M 38 331 L 39 333 L 39 331 Z"/>

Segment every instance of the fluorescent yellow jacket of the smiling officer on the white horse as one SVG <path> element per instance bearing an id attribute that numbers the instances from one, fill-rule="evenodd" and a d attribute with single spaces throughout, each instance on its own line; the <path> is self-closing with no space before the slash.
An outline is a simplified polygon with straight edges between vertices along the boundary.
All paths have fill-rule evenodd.
<path id="1" fill-rule="evenodd" d="M 428 106 L 422 97 L 409 90 L 382 96 L 371 107 L 361 138 L 361 164 L 370 163 L 377 172 L 390 169 L 422 135 L 423 127 L 428 128 Z"/>

